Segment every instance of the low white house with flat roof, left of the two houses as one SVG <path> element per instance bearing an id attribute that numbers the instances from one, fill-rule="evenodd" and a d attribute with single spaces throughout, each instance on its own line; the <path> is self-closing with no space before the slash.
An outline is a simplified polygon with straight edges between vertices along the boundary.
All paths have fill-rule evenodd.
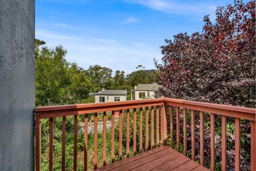
<path id="1" fill-rule="evenodd" d="M 126 90 L 102 89 L 98 93 L 90 93 L 95 96 L 95 103 L 126 101 Z"/>

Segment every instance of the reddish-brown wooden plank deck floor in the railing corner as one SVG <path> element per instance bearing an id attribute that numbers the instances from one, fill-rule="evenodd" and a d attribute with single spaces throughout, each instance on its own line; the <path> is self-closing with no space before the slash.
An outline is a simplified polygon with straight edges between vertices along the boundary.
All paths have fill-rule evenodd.
<path id="1" fill-rule="evenodd" d="M 209 170 L 169 146 L 137 154 L 95 170 Z"/>

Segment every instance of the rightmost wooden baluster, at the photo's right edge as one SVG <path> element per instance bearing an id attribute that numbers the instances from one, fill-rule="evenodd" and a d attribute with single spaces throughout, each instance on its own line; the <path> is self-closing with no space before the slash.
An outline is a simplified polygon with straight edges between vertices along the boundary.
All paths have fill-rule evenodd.
<path id="1" fill-rule="evenodd" d="M 251 170 L 255 170 L 255 121 L 251 120 Z"/>

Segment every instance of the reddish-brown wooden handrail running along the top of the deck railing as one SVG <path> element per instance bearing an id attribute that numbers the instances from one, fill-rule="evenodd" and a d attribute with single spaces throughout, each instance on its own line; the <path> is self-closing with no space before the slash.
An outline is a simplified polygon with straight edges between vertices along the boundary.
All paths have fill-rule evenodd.
<path id="1" fill-rule="evenodd" d="M 146 100 L 132 100 L 120 102 L 105 102 L 105 103 L 85 103 L 85 104 L 70 104 L 70 105 L 55 105 L 37 107 L 35 112 L 41 115 L 40 118 L 79 115 L 93 113 L 97 111 L 111 111 L 120 109 L 131 109 L 135 107 L 146 107 L 148 105 L 163 105 L 163 103 L 174 105 L 177 107 L 188 108 L 198 111 L 213 112 L 219 115 L 236 117 L 241 119 L 249 119 L 255 121 L 255 108 L 237 107 L 233 105 L 215 104 L 207 102 L 196 102 L 180 99 L 170 99 L 166 97 Z M 66 112 L 66 114 L 65 114 Z M 67 113 L 68 112 L 68 113 Z M 54 116 L 52 116 L 54 113 Z"/>

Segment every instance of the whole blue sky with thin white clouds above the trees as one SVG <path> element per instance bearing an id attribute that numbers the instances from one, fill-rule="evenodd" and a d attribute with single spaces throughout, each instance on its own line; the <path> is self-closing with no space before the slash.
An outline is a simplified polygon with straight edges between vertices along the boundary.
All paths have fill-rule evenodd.
<path id="1" fill-rule="evenodd" d="M 179 32 L 202 31 L 203 17 L 233 1 L 36 0 L 36 38 L 61 44 L 67 60 L 126 74 L 142 64 L 154 69 L 164 39 Z"/>

